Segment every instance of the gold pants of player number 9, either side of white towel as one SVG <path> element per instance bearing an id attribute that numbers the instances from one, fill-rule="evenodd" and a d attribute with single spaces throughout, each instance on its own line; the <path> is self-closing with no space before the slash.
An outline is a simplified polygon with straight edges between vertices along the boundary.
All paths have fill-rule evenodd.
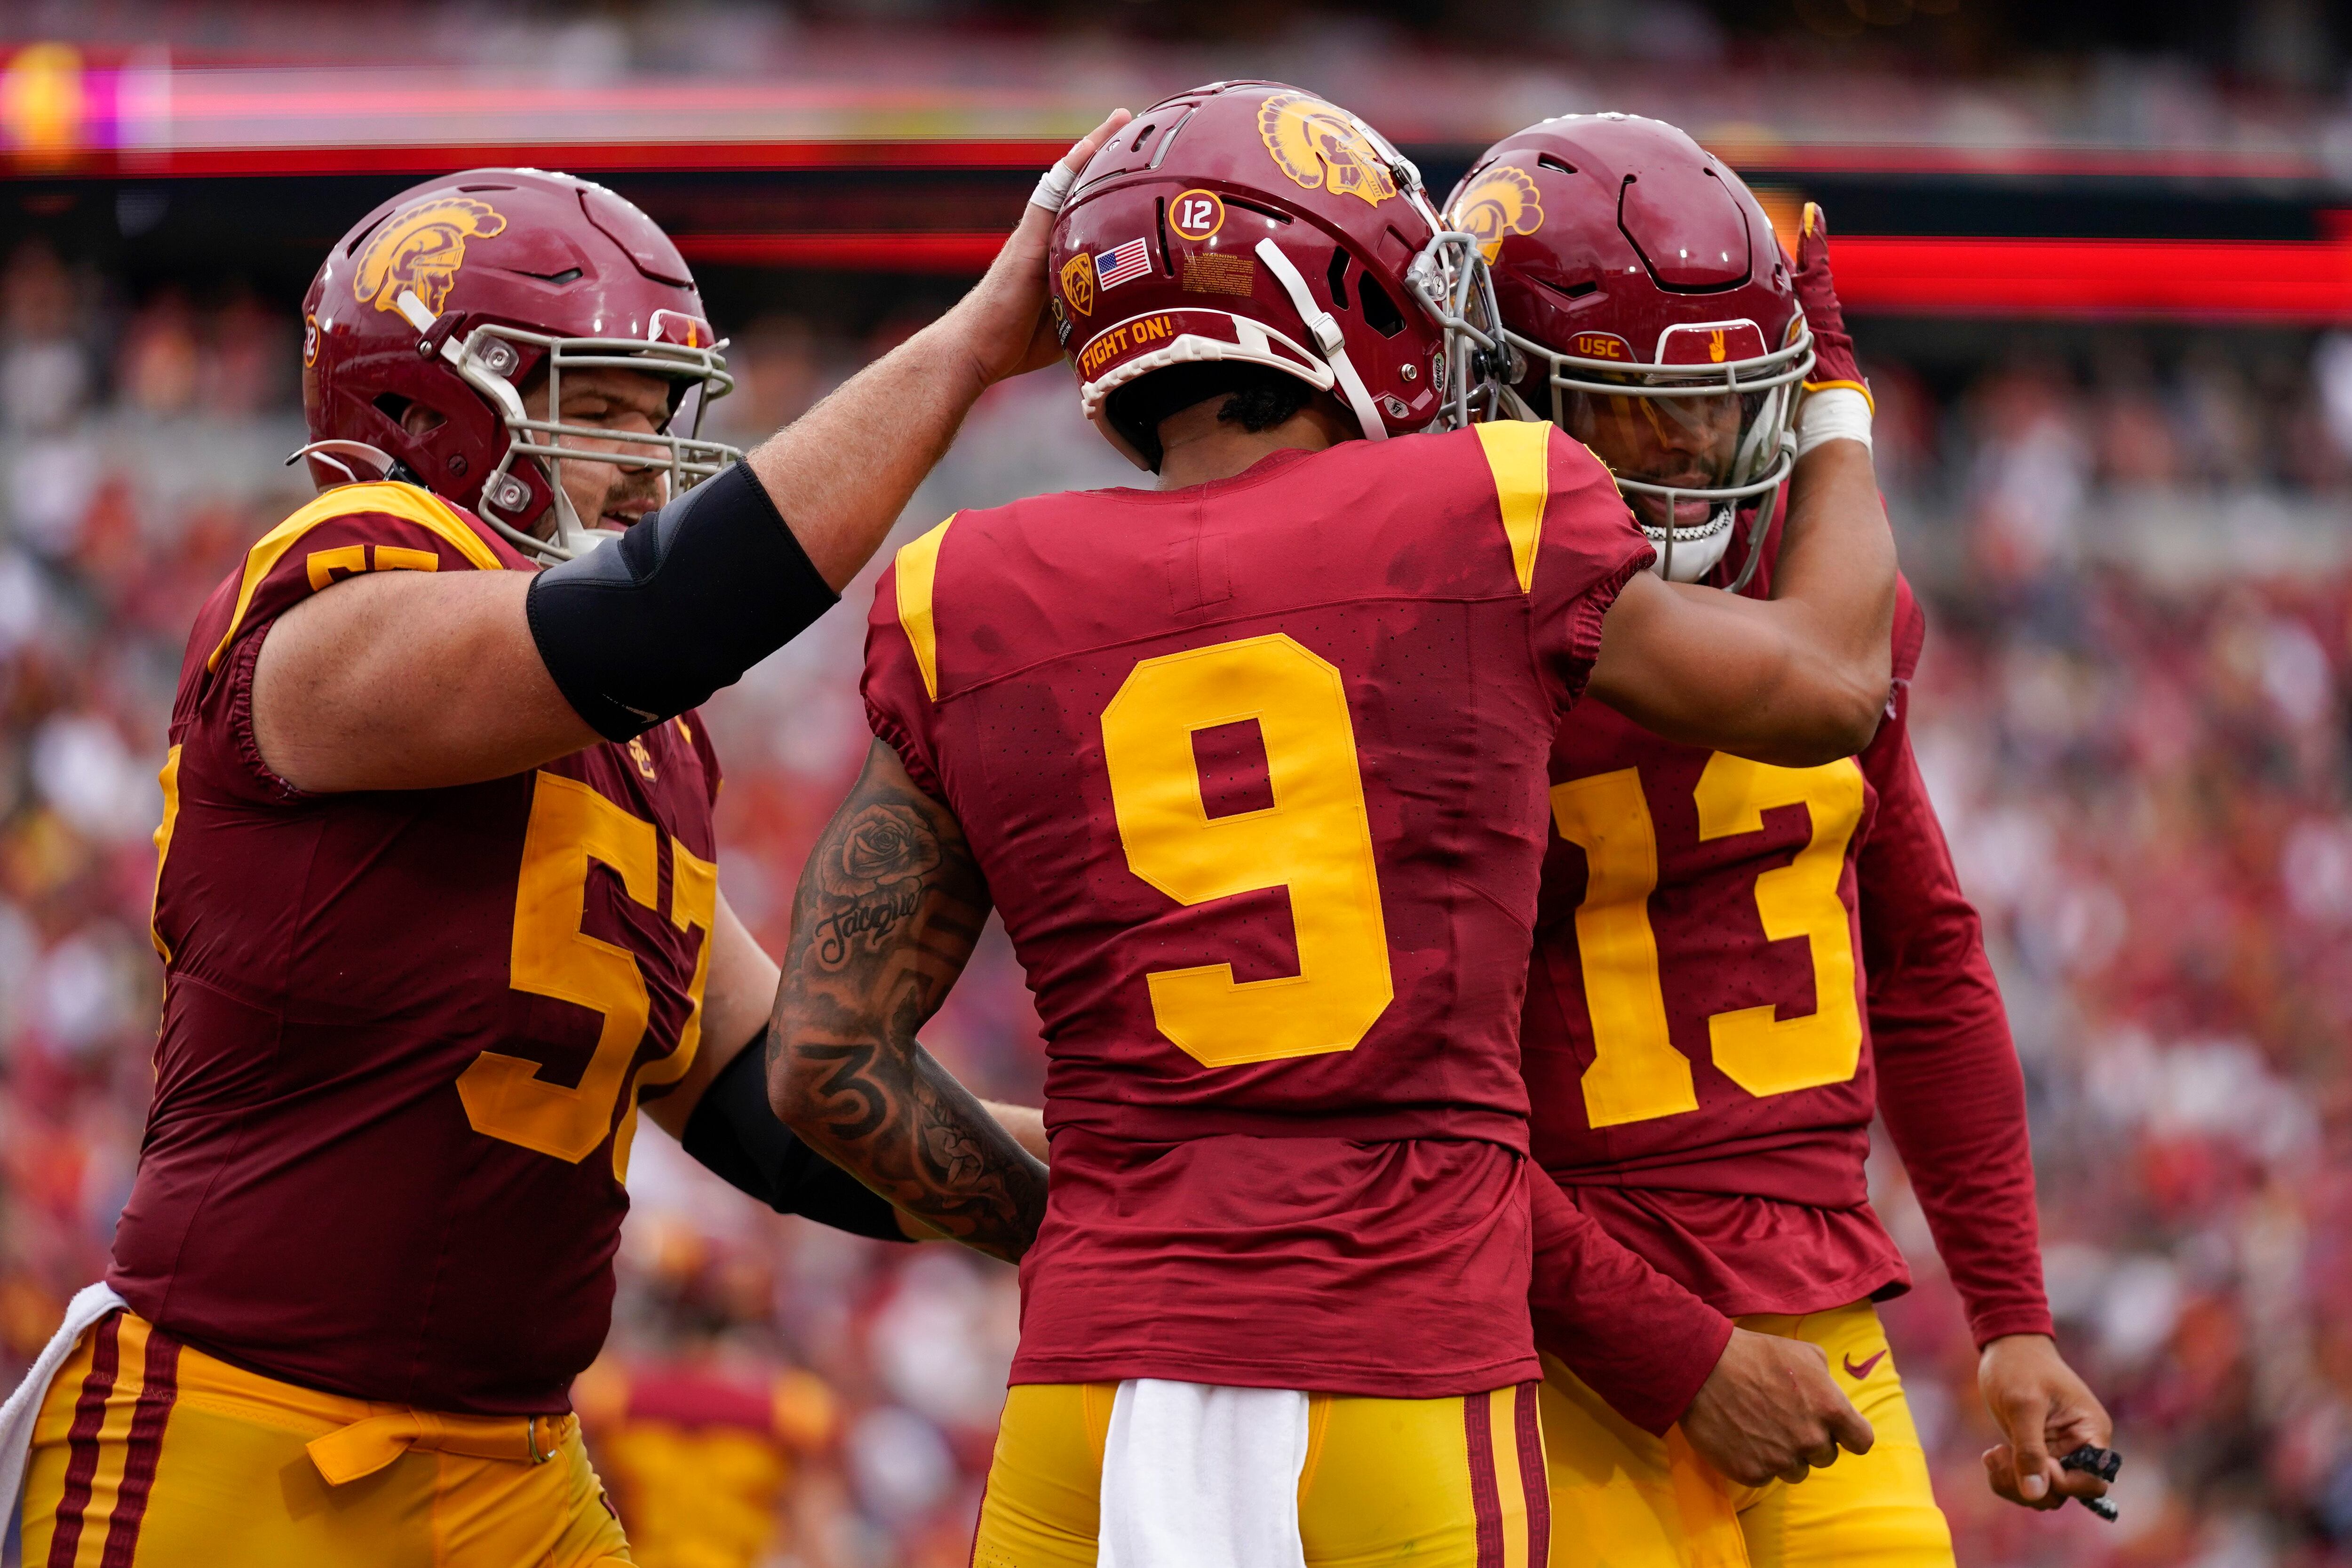
<path id="1" fill-rule="evenodd" d="M 1094 1568 L 1115 1382 L 1004 1399 L 974 1568 Z M 1541 1568 L 1536 1385 L 1454 1399 L 1308 1399 L 1308 1568 Z"/>

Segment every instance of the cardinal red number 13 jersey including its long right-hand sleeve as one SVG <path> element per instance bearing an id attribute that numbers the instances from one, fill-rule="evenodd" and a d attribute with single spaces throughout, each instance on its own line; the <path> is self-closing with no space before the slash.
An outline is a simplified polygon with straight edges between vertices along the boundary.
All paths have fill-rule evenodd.
<path id="1" fill-rule="evenodd" d="M 1562 726 L 1534 1150 L 1717 1309 L 1818 1312 L 1910 1281 L 1863 1175 L 1884 1100 L 1978 1338 L 2049 1333 L 2023 1081 L 1910 755 L 1924 630 L 1898 583 L 1893 696 L 1853 759 L 1764 766 L 1597 705 Z"/>

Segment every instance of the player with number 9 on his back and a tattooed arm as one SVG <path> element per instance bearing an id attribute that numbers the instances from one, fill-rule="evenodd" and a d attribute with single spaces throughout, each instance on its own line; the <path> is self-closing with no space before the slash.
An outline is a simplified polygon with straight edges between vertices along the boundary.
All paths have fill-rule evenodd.
<path id="1" fill-rule="evenodd" d="M 1583 447 L 1456 428 L 1498 343 L 1442 228 L 1310 94 L 1138 115 L 1061 214 L 1054 303 L 1160 489 L 950 517 L 877 588 L 877 743 L 802 875 L 771 1091 L 1021 1258 L 976 1563 L 1543 1561 L 1531 1204 L 1597 1232 L 1524 1159 L 1557 717 L 1590 689 L 1804 766 L 1884 708 L 1867 451 L 1797 465 L 1778 599 L 1644 576 Z M 990 905 L 1051 1197 L 915 1044 Z"/>

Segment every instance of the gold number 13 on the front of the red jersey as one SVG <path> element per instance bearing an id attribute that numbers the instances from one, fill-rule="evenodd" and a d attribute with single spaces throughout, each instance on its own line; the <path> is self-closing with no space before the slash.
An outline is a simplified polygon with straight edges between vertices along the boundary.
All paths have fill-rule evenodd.
<path id="1" fill-rule="evenodd" d="M 1773 806 L 1804 806 L 1813 818 L 1795 860 L 1757 875 L 1764 940 L 1804 938 L 1811 950 L 1813 1011 L 1780 1018 L 1766 1001 L 1710 1016 L 1717 1070 L 1757 1098 L 1844 1084 L 1863 1060 L 1863 1018 L 1853 994 L 1853 926 L 1837 884 L 1846 844 L 1863 820 L 1863 769 L 1851 757 L 1818 769 L 1776 769 L 1715 752 L 1691 795 L 1703 842 L 1764 832 L 1764 813 Z M 1585 851 L 1585 900 L 1576 907 L 1576 952 L 1592 1016 L 1585 1119 L 1621 1126 L 1698 1110 L 1691 1060 L 1668 1037 L 1658 938 L 1649 926 L 1658 832 L 1642 797 L 1642 773 L 1618 769 L 1552 785 L 1552 820 L 1562 839 Z"/>

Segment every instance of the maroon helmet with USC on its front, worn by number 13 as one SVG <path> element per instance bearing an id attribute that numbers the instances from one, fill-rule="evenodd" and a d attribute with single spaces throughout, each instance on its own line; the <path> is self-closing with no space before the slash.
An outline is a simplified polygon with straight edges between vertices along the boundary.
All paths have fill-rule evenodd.
<path id="1" fill-rule="evenodd" d="M 1743 510 L 1755 541 L 1813 341 L 1748 186 L 1661 120 L 1562 115 L 1494 143 L 1446 212 L 1494 268 L 1517 395 L 1609 463 L 1656 571 L 1712 571 Z"/>

